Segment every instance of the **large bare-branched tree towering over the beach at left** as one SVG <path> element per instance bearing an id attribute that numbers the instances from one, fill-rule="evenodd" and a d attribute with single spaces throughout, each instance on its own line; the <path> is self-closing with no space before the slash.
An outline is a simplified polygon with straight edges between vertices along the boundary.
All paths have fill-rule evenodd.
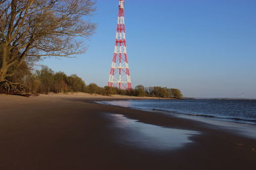
<path id="1" fill-rule="evenodd" d="M 24 62 L 85 52 L 93 0 L 0 0 L 0 82 Z"/>

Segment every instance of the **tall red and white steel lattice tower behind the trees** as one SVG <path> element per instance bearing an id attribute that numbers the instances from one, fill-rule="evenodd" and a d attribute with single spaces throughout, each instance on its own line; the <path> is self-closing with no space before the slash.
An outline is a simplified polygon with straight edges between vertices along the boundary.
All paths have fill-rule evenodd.
<path id="1" fill-rule="evenodd" d="M 126 53 L 124 0 L 119 0 L 119 12 L 116 29 L 116 43 L 113 62 L 108 80 L 109 87 L 131 90 L 131 77 Z"/>

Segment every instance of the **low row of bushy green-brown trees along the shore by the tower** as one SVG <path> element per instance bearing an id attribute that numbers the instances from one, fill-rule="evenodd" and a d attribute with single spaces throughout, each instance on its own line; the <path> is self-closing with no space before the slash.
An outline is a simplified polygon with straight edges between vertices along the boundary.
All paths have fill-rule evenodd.
<path id="1" fill-rule="evenodd" d="M 132 90 L 119 90 L 115 87 L 99 87 L 95 83 L 86 85 L 76 74 L 67 76 L 67 74 L 61 71 L 54 73 L 47 66 L 42 66 L 40 70 L 33 73 L 28 72 L 26 76 L 20 76 L 18 79 L 16 81 L 20 81 L 28 86 L 33 94 L 85 92 L 104 96 L 118 94 L 140 97 L 182 97 L 179 89 L 168 89 L 166 87 L 143 87 L 143 85 L 138 85 Z"/>

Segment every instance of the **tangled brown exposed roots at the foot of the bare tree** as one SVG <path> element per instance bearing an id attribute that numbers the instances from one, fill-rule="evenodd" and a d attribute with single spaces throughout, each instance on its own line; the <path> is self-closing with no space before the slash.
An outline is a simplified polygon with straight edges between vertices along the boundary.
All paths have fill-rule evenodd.
<path id="1" fill-rule="evenodd" d="M 19 96 L 31 96 L 29 94 L 30 88 L 20 83 L 13 83 L 8 80 L 0 82 L 0 94 L 14 94 Z"/>

